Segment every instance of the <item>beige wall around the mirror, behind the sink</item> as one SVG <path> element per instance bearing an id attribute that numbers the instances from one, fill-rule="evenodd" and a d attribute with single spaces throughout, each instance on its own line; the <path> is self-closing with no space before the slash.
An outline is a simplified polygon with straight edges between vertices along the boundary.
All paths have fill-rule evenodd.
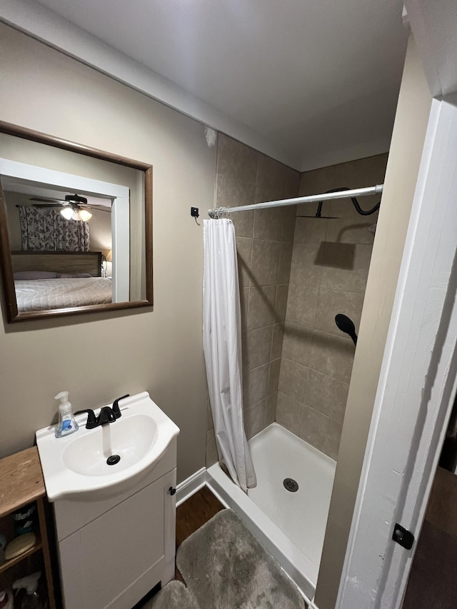
<path id="1" fill-rule="evenodd" d="M 213 206 L 216 150 L 196 121 L 3 24 L 0 41 L 2 120 L 154 166 L 154 310 L 4 321 L 0 456 L 32 445 L 62 389 L 75 409 L 146 390 L 181 428 L 182 480 L 206 439 L 202 226 L 189 208 Z"/>

